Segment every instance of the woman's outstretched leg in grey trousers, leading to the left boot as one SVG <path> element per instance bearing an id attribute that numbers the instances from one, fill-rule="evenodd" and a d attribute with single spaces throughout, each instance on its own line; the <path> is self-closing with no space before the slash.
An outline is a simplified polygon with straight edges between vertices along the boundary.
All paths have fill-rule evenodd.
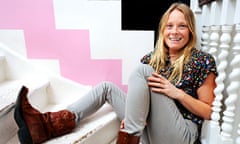
<path id="1" fill-rule="evenodd" d="M 126 94 L 116 85 L 110 82 L 102 82 L 96 85 L 85 96 L 69 105 L 67 110 L 76 116 L 76 123 L 93 114 L 108 102 L 117 113 L 120 120 L 124 118 Z"/>

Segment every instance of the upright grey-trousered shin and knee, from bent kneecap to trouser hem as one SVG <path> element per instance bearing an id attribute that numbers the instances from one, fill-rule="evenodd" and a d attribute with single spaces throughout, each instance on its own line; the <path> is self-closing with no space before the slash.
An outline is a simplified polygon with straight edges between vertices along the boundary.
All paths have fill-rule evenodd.
<path id="1" fill-rule="evenodd" d="M 130 75 L 123 131 L 137 136 L 142 135 L 149 112 L 150 95 L 146 78 L 154 70 L 151 66 L 140 64 Z"/>

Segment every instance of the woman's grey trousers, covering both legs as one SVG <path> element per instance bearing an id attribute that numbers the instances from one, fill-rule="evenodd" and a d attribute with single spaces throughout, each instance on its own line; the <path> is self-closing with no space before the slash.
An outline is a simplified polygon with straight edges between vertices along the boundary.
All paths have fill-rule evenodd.
<path id="1" fill-rule="evenodd" d="M 130 75 L 127 95 L 114 84 L 102 82 L 67 109 L 79 123 L 108 102 L 124 119 L 123 131 L 142 136 L 143 144 L 193 144 L 198 136 L 196 124 L 182 117 L 172 99 L 151 92 L 146 78 L 153 71 L 140 64 Z"/>

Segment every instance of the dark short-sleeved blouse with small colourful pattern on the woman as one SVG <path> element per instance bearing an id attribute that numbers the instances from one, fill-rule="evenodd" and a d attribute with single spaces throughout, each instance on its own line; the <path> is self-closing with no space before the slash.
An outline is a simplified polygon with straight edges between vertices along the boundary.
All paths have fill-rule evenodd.
<path id="1" fill-rule="evenodd" d="M 145 55 L 141 62 L 144 64 L 148 64 L 151 59 L 151 55 L 153 52 Z M 164 77 L 168 78 L 173 70 L 171 67 L 170 60 L 166 60 L 166 67 L 162 69 L 159 73 Z M 194 48 L 192 50 L 192 55 L 190 60 L 184 65 L 184 72 L 182 79 L 180 82 L 176 83 L 178 79 L 174 80 L 172 83 L 177 87 L 185 91 L 187 94 L 191 95 L 194 98 L 198 98 L 197 89 L 203 84 L 206 77 L 210 72 L 213 72 L 216 76 L 217 68 L 216 63 L 212 55 L 203 52 L 201 50 L 197 50 Z M 177 107 L 179 108 L 181 114 L 185 119 L 192 120 L 196 123 L 199 128 L 203 123 L 203 119 L 194 115 L 190 111 L 188 111 L 181 103 L 175 100 Z"/>

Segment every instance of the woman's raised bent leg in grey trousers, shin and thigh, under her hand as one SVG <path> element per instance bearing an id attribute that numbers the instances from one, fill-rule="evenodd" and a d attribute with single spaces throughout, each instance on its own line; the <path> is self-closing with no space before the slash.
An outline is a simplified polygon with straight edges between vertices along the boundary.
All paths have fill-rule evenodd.
<path id="1" fill-rule="evenodd" d="M 149 143 L 193 143 L 197 137 L 196 124 L 182 117 L 172 99 L 153 93 L 149 89 L 146 78 L 153 71 L 151 66 L 141 64 L 131 74 L 126 100 L 125 127 L 122 131 L 140 136 L 148 118 Z"/>

